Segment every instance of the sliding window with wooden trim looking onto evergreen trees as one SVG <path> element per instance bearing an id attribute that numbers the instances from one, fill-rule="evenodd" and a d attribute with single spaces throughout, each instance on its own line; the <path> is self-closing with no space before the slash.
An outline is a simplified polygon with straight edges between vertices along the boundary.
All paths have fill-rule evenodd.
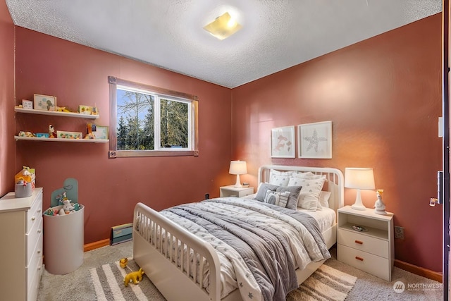
<path id="1" fill-rule="evenodd" d="M 110 157 L 197 156 L 197 97 L 109 77 Z"/>

